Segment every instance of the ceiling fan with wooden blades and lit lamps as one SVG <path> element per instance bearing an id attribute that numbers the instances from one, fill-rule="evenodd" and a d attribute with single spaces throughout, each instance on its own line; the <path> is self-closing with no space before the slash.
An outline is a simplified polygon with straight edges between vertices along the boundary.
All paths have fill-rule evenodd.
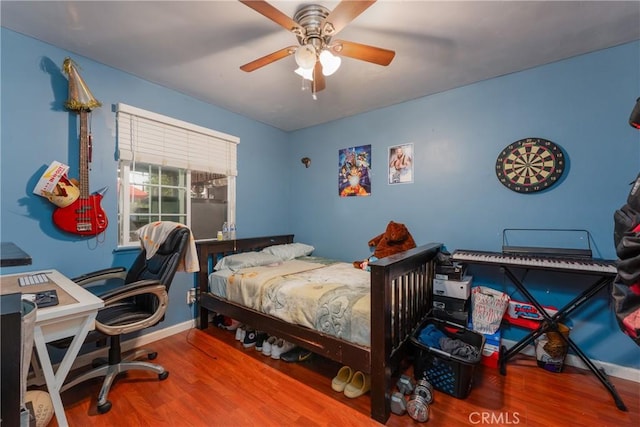
<path id="1" fill-rule="evenodd" d="M 299 67 L 296 73 L 310 81 L 314 98 L 316 92 L 326 87 L 325 76 L 333 74 L 340 66 L 341 56 L 386 66 L 396 54 L 392 50 L 379 47 L 346 40 L 332 40 L 376 0 L 342 0 L 332 11 L 321 5 L 305 5 L 298 9 L 293 18 L 264 0 L 239 1 L 293 33 L 299 43 L 299 46 L 287 46 L 244 64 L 240 69 L 246 72 L 255 71 L 294 55 Z"/>

